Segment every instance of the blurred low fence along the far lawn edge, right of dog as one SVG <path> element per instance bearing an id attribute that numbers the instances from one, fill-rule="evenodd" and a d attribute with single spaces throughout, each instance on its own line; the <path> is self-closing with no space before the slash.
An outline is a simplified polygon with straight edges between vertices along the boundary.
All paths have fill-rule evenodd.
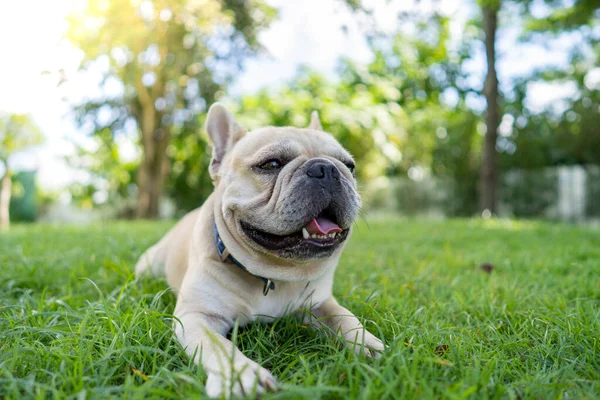
<path id="1" fill-rule="evenodd" d="M 600 167 L 561 166 L 513 169 L 502 175 L 498 215 L 582 222 L 600 219 Z M 406 216 L 478 215 L 476 182 L 452 178 L 391 178 L 375 182 L 367 194 L 374 211 Z"/>

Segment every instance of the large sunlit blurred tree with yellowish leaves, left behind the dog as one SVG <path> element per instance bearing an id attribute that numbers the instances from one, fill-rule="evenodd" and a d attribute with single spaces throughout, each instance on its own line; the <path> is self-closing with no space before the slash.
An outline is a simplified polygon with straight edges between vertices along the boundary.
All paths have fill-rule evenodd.
<path id="1" fill-rule="evenodd" d="M 138 217 L 157 216 L 169 147 L 197 138 L 197 116 L 259 49 L 274 15 L 262 0 L 88 0 L 70 15 L 66 36 L 104 89 L 76 108 L 79 123 L 100 151 L 114 152 L 116 135 L 139 137 Z"/>

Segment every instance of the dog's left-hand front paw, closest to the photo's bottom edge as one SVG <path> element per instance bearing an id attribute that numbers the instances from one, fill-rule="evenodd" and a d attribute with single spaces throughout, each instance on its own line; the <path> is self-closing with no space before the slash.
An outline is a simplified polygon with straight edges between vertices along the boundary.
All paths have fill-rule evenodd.
<path id="1" fill-rule="evenodd" d="M 277 388 L 277 380 L 251 360 L 236 363 L 233 371 L 209 372 L 206 394 L 212 398 L 256 397 Z"/>

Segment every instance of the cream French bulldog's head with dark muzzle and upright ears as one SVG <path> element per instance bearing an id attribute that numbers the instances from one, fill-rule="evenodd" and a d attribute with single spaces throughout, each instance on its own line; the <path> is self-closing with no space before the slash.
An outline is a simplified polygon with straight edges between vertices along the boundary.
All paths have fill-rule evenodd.
<path id="1" fill-rule="evenodd" d="M 215 215 L 247 252 L 310 262 L 339 254 L 360 207 L 352 156 L 310 126 L 248 132 L 221 104 L 208 113 Z"/>

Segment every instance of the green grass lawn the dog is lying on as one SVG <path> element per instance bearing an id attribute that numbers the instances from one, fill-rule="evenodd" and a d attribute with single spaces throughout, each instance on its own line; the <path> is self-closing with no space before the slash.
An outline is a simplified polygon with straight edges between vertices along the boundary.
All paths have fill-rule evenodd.
<path id="1" fill-rule="evenodd" d="M 134 281 L 169 223 L 0 234 L 0 398 L 192 398 L 205 375 L 175 297 Z M 491 273 L 478 268 L 490 262 Z M 292 317 L 241 330 L 274 399 L 595 398 L 600 231 L 537 222 L 360 223 L 335 294 L 389 350 L 364 360 Z"/>

